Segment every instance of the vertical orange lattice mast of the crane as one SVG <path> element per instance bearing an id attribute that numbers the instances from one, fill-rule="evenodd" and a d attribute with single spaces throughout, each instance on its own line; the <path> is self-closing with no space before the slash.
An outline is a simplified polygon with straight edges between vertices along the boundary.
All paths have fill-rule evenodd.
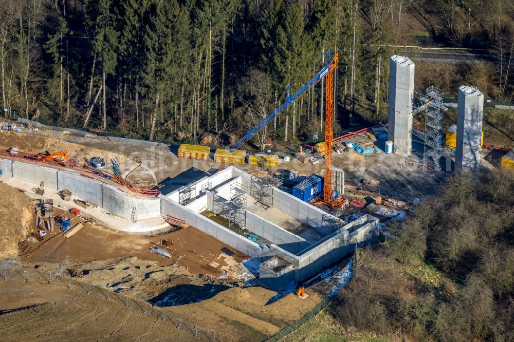
<path id="1" fill-rule="evenodd" d="M 339 67 L 339 52 L 336 51 L 326 74 L 325 101 L 325 180 L 323 182 L 323 200 L 332 202 L 332 147 L 334 143 L 334 70 Z"/>

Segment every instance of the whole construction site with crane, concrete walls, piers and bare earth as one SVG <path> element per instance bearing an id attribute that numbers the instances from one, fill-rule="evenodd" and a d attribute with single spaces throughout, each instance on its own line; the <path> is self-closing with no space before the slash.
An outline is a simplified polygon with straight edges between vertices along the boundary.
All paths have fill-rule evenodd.
<path id="1" fill-rule="evenodd" d="M 327 289 L 343 286 L 334 275 L 348 268 L 353 253 L 377 243 L 381 227 L 434 195 L 448 173 L 495 167 L 484 159 L 498 148 L 483 142 L 480 90 L 456 89 L 456 125 L 445 131 L 450 105 L 444 93 L 430 87 L 417 98 L 414 63 L 405 56 L 390 59 L 389 122 L 335 137 L 338 54 L 327 61 L 226 148 L 168 146 L 4 119 L 0 191 L 3 216 L 13 219 L 2 226 L 3 265 L 37 265 L 176 306 L 208 326 L 231 326 L 234 339 L 273 335 L 318 305 Z M 243 149 L 322 79 L 322 141 L 295 153 Z M 423 127 L 413 125 L 416 115 Z M 512 167 L 513 153 L 503 151 L 501 164 Z M 23 219 L 15 219 L 16 212 Z M 327 270 L 335 271 L 323 276 Z M 36 284 L 24 287 L 39 291 Z M 277 293 L 283 296 L 271 300 Z"/>

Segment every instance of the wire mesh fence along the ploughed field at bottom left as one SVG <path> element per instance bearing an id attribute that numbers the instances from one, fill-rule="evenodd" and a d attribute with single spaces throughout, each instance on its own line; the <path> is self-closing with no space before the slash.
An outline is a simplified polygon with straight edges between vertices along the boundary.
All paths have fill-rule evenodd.
<path id="1" fill-rule="evenodd" d="M 134 298 L 126 294 L 115 292 L 112 289 L 96 286 L 90 282 L 81 282 L 75 278 L 64 276 L 59 273 L 51 273 L 47 271 L 24 270 L 20 268 L 0 268 L 0 276 L 4 282 L 7 281 L 24 281 L 47 283 L 52 286 L 65 287 L 68 290 L 76 290 L 89 296 L 97 296 L 104 300 L 123 305 L 127 310 L 132 309 L 146 315 L 152 315 L 157 319 L 168 322 L 176 329 L 181 329 L 190 333 L 198 340 L 232 342 L 237 338 L 226 334 L 221 334 L 214 329 L 192 322 L 174 312 L 167 307 L 160 307 L 149 301 Z M 2 281 L 2 280 L 0 280 Z"/>

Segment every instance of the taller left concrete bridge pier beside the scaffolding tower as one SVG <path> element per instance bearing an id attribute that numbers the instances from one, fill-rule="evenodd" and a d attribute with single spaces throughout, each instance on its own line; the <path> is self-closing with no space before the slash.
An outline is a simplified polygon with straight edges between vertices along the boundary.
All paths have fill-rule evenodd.
<path id="1" fill-rule="evenodd" d="M 405 56 L 391 56 L 389 68 L 388 140 L 396 154 L 409 156 L 412 148 L 412 100 L 414 63 Z"/>

